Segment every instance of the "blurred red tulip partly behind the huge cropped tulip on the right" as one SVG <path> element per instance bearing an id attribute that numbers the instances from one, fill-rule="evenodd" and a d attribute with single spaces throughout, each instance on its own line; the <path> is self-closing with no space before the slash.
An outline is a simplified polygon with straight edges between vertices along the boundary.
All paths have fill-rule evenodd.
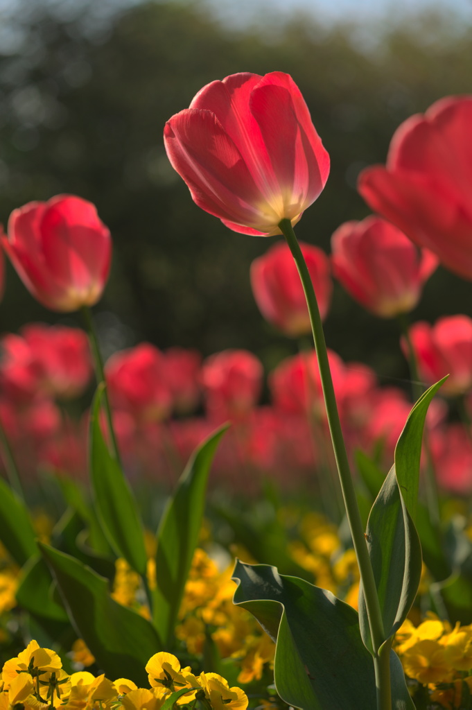
<path id="1" fill-rule="evenodd" d="M 437 267 L 405 234 L 380 217 L 345 222 L 331 237 L 333 273 L 346 291 L 375 315 L 390 318 L 412 310 L 422 285 Z"/>

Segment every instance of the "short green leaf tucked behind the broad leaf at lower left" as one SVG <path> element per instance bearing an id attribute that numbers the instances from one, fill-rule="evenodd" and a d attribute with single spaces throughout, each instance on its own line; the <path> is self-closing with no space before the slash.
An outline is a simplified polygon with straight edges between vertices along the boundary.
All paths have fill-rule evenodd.
<path id="1" fill-rule="evenodd" d="M 21 582 L 16 590 L 18 604 L 35 616 L 68 621 L 62 603 L 54 599 L 54 581 L 43 557 L 35 555 L 21 571 Z"/>

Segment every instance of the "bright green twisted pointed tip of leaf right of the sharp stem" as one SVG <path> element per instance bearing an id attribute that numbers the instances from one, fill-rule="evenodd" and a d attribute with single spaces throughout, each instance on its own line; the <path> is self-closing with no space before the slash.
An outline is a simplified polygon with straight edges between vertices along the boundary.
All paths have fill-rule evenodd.
<path id="1" fill-rule="evenodd" d="M 418 501 L 419 460 L 421 459 L 424 420 L 429 403 L 446 378 L 442 378 L 419 398 L 407 418 L 405 427 L 395 447 L 397 481 L 407 510 L 413 520 L 416 519 Z"/>

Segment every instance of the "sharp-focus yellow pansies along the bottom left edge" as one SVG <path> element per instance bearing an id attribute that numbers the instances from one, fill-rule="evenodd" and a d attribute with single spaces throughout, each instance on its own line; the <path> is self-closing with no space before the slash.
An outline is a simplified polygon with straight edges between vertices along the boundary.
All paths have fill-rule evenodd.
<path id="1" fill-rule="evenodd" d="M 0 681 L 0 710 L 160 710 L 173 693 L 180 709 L 246 710 L 248 698 L 230 688 L 216 673 L 195 676 L 190 666 L 180 667 L 166 652 L 153 655 L 146 665 L 150 688 L 138 688 L 132 680 L 112 682 L 87 671 L 68 675 L 60 657 L 31 641 L 16 658 L 6 661 Z"/>

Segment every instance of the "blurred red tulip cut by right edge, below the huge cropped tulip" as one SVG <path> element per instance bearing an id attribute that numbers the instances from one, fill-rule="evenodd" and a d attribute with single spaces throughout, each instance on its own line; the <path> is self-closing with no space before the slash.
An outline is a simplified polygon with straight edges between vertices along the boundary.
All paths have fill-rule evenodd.
<path id="1" fill-rule="evenodd" d="M 424 321 L 410 328 L 419 376 L 434 383 L 449 374 L 439 393 L 455 396 L 472 388 L 472 320 L 466 315 L 439 318 L 434 326 Z M 407 351 L 405 339 L 402 349 Z"/>

